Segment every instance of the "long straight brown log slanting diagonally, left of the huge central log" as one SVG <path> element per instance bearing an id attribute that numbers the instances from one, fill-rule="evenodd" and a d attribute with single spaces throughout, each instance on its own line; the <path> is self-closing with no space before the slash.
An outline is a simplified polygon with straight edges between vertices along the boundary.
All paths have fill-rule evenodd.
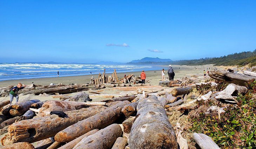
<path id="1" fill-rule="evenodd" d="M 57 133 L 54 138 L 58 142 L 70 142 L 76 137 L 79 137 L 93 129 L 105 128 L 122 116 L 122 108 L 129 103 L 130 102 L 126 100 L 111 106 L 90 118 L 67 127 L 63 131 Z"/>

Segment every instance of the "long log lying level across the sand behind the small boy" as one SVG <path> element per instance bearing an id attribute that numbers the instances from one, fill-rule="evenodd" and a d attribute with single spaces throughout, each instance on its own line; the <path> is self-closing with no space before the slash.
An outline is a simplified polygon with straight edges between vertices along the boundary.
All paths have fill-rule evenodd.
<path id="1" fill-rule="evenodd" d="M 5 87 L 0 89 L 0 97 L 7 97 L 13 86 Z M 105 88 L 104 85 L 88 85 L 88 84 L 77 84 L 77 85 L 34 85 L 34 87 L 26 87 L 19 91 L 19 94 L 68 94 L 79 91 L 97 90 Z"/>

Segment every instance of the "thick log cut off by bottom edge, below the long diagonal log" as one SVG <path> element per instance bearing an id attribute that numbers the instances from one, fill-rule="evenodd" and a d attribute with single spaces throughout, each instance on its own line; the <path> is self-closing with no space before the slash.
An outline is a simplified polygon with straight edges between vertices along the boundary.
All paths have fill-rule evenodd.
<path id="1" fill-rule="evenodd" d="M 121 127 L 118 124 L 112 124 L 82 139 L 74 149 L 110 149 L 121 135 Z"/>

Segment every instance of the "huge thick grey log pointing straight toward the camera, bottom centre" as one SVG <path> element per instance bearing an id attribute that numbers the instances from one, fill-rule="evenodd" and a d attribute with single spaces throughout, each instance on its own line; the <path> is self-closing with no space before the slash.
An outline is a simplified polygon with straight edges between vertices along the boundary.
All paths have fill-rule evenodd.
<path id="1" fill-rule="evenodd" d="M 138 104 L 136 117 L 129 136 L 130 148 L 178 148 L 174 129 L 156 96 L 148 97 Z"/>

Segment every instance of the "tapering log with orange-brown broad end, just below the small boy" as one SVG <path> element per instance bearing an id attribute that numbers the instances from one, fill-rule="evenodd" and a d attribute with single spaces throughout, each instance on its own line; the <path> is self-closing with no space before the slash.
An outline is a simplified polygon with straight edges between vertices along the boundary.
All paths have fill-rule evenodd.
<path id="1" fill-rule="evenodd" d="M 14 105 L 12 105 L 9 113 L 16 117 L 16 116 L 22 116 L 26 111 L 29 110 L 29 107 L 33 104 L 33 103 L 37 103 L 40 102 L 40 100 L 38 99 L 34 99 L 34 100 L 26 100 L 20 103 L 16 103 Z"/>

